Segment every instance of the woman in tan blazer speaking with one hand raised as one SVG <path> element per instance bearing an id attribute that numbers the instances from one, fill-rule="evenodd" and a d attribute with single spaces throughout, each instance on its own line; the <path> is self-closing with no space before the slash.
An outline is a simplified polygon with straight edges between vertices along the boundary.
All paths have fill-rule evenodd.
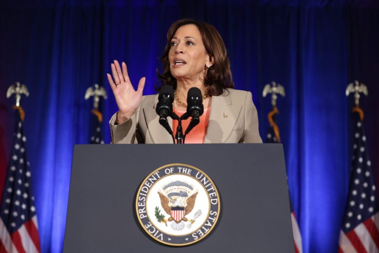
<path id="1" fill-rule="evenodd" d="M 178 20 L 167 33 L 162 56 L 162 85 L 172 86 L 173 112 L 186 112 L 188 90 L 202 92 L 204 113 L 187 134 L 185 143 L 261 143 L 258 116 L 250 92 L 234 90 L 230 62 L 216 28 L 194 20 Z M 126 64 L 111 64 L 107 74 L 119 111 L 110 120 L 112 143 L 172 143 L 172 136 L 159 124 L 158 95 L 142 96 L 145 77 L 135 91 Z M 168 119 L 175 130 L 177 121 Z M 183 129 L 189 119 L 182 121 Z"/>

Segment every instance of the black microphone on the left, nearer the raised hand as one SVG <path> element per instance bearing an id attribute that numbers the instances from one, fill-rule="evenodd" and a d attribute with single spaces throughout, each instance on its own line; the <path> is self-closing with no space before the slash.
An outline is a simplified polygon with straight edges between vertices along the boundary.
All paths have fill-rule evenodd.
<path id="1" fill-rule="evenodd" d="M 174 89 L 169 85 L 162 86 L 158 95 L 158 104 L 155 111 L 159 115 L 159 123 L 172 135 L 167 117 L 172 115 L 172 102 L 174 102 Z"/>

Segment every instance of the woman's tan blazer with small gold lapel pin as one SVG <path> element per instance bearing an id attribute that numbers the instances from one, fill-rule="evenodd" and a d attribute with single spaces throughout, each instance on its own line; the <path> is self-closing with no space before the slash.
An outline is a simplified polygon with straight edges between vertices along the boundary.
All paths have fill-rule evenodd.
<path id="1" fill-rule="evenodd" d="M 109 121 L 112 143 L 172 143 L 172 137 L 159 124 L 157 103 L 158 95 L 144 96 L 134 115 L 122 124 L 115 124 L 115 113 Z M 172 128 L 170 117 L 168 121 Z M 262 143 L 250 92 L 228 89 L 212 97 L 204 143 Z"/>

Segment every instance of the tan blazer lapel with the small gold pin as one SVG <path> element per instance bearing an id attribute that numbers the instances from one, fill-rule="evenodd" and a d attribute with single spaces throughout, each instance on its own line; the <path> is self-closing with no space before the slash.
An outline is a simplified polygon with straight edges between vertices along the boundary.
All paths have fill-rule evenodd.
<path id="1" fill-rule="evenodd" d="M 231 103 L 230 94 L 227 91 L 220 96 L 212 96 L 204 143 L 224 143 L 233 130 L 241 107 L 241 104 Z"/>

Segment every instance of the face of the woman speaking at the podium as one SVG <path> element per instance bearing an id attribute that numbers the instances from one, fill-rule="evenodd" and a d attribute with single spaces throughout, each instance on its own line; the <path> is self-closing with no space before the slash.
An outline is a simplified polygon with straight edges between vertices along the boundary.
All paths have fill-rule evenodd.
<path id="1" fill-rule="evenodd" d="M 183 25 L 176 30 L 171 39 L 168 59 L 171 74 L 177 80 L 203 80 L 209 56 L 196 25 Z"/>

